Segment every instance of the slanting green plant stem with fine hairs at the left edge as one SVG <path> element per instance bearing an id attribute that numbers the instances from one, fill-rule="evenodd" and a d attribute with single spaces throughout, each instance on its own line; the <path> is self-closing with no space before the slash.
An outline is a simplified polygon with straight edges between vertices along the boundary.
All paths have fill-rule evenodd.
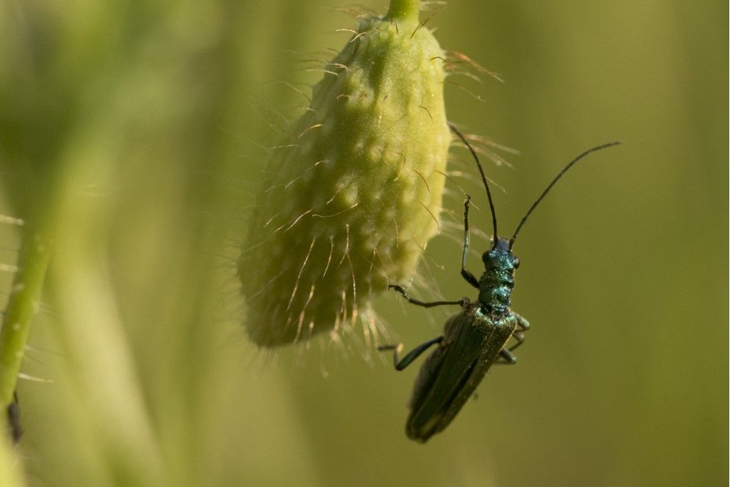
<path id="1" fill-rule="evenodd" d="M 18 272 L 0 328 L 0 400 L 3 410 L 13 400 L 31 319 L 37 310 L 50 256 L 50 242 L 44 232 L 26 228 Z"/>

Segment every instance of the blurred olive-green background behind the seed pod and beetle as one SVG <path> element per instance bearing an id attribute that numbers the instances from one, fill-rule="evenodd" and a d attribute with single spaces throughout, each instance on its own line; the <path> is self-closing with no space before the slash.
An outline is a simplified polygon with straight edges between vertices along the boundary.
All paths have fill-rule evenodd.
<path id="1" fill-rule="evenodd" d="M 0 213 L 56 225 L 23 363 L 53 382 L 20 382 L 13 468 L 58 486 L 727 485 L 727 3 L 453 0 L 431 19 L 506 80 L 453 78 L 483 103 L 446 87 L 450 120 L 520 150 L 487 168 L 505 233 L 572 156 L 624 145 L 520 234 L 520 363 L 426 445 L 403 431 L 420 362 L 396 373 L 326 337 L 261 352 L 241 326 L 233 259 L 270 124 L 306 104 L 279 82 L 320 76 L 288 51 L 344 45 L 334 7 L 0 2 Z M 0 225 L 1 263 L 21 236 Z M 449 298 L 473 292 L 458 239 L 424 271 Z M 447 317 L 376 309 L 407 348 Z"/>

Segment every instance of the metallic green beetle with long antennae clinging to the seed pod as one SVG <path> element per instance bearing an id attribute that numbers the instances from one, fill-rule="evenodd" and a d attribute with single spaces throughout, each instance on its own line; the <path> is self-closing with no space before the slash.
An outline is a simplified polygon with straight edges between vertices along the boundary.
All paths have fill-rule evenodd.
<path id="1" fill-rule="evenodd" d="M 399 360 L 398 354 L 402 349 L 402 344 L 384 345 L 378 348 L 379 350 L 393 350 L 393 364 L 396 370 L 402 370 L 431 345 L 439 345 L 423 363 L 409 403 L 410 415 L 406 423 L 406 434 L 411 440 L 418 442 L 426 442 L 453 421 L 492 364 L 515 364 L 517 362 L 512 350 L 522 344 L 523 332 L 529 329 L 530 324 L 525 318 L 510 309 L 510 294 L 512 294 L 512 288 L 515 287 L 515 269 L 520 265 L 519 259 L 512 253 L 515 239 L 531 212 L 573 164 L 589 153 L 620 143 L 610 142 L 593 147 L 570 161 L 532 204 L 520 221 L 515 234 L 510 240 L 507 240 L 497 237 L 497 220 L 491 192 L 475 150 L 461 132 L 453 126 L 451 129 L 469 148 L 477 162 L 484 187 L 487 190 L 492 214 L 493 244 L 482 255 L 485 272 L 477 280 L 477 277 L 466 269 L 466 253 L 469 250 L 469 203 L 471 202 L 469 195 L 466 195 L 461 276 L 467 283 L 479 289 L 477 301 L 472 302 L 468 298 L 462 298 L 458 301 L 422 302 L 408 296 L 406 290 L 400 285 L 388 286 L 402 294 L 408 302 L 418 306 L 434 307 L 445 304 L 461 306 L 461 312 L 453 315 L 446 322 L 444 334 L 441 337 L 419 345 L 401 360 Z M 516 343 L 508 348 L 507 342 L 510 338 L 514 338 Z"/>

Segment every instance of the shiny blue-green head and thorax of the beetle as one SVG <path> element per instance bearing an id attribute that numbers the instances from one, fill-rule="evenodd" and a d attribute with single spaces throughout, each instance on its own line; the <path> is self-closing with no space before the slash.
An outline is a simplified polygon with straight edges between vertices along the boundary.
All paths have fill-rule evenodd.
<path id="1" fill-rule="evenodd" d="M 479 302 L 487 312 L 501 315 L 510 307 L 515 269 L 520 261 L 510 250 L 510 242 L 502 238 L 483 254 L 482 260 L 485 271 L 479 280 Z"/>

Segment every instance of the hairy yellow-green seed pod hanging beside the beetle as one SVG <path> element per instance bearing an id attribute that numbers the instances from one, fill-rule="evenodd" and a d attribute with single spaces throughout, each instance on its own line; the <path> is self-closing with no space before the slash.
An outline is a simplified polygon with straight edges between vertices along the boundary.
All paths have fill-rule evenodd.
<path id="1" fill-rule="evenodd" d="M 273 151 L 238 267 L 258 345 L 354 329 L 439 230 L 445 54 L 418 4 L 360 21 Z M 360 318 L 369 342 L 375 326 Z"/>

